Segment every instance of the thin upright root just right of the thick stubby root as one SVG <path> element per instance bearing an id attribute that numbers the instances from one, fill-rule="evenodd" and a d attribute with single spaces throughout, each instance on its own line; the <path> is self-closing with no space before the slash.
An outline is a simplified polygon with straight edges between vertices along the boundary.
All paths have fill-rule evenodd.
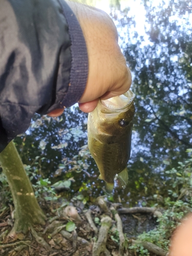
<path id="1" fill-rule="evenodd" d="M 123 234 L 123 227 L 122 227 L 122 221 L 120 216 L 118 215 L 117 211 L 115 208 L 112 206 L 111 208 L 112 214 L 115 217 L 115 220 L 117 221 L 117 230 L 119 232 L 119 252 L 118 256 L 123 256 L 124 255 L 124 234 Z"/>

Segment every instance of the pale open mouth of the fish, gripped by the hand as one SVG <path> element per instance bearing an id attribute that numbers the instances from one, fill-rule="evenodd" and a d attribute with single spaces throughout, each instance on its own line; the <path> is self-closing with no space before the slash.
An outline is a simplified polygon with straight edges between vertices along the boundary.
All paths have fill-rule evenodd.
<path id="1" fill-rule="evenodd" d="M 122 110 L 128 108 L 135 99 L 135 94 L 129 90 L 126 93 L 115 96 L 110 99 L 100 100 L 103 108 L 101 109 L 102 113 L 118 113 Z"/>

